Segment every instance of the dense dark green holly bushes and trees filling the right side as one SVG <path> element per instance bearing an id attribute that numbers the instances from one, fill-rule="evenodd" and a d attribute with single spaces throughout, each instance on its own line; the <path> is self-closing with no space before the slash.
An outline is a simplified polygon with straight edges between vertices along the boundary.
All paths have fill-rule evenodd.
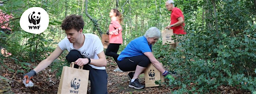
<path id="1" fill-rule="evenodd" d="M 173 93 L 207 93 L 222 85 L 255 91 L 256 24 L 250 1 L 215 1 L 217 24 L 212 1 L 186 2 L 185 41 L 176 50 L 160 44 L 153 48 L 160 62 L 180 75 L 171 88 L 181 88 Z"/>

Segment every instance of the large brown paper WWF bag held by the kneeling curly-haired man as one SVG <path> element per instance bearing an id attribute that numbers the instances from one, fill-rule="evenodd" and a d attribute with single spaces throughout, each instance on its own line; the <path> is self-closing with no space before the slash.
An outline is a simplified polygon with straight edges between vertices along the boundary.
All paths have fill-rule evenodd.
<path id="1" fill-rule="evenodd" d="M 74 62 L 70 67 L 63 66 L 60 84 L 57 94 L 86 94 L 88 87 L 89 70 L 74 68 Z"/>

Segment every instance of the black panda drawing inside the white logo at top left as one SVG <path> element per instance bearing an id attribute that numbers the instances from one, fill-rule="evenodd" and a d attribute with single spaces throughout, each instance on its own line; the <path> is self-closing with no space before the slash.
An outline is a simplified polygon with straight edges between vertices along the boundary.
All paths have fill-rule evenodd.
<path id="1" fill-rule="evenodd" d="M 33 23 L 34 25 L 39 24 L 40 18 L 41 18 L 40 17 L 41 13 L 40 12 L 38 12 L 38 13 L 33 12 L 31 14 L 31 16 L 30 16 L 30 14 L 29 14 L 29 23 Z"/>

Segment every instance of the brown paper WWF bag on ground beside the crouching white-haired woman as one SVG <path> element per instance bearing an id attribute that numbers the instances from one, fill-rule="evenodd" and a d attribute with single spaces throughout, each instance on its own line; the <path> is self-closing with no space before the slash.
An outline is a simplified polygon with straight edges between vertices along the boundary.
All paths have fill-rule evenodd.
<path id="1" fill-rule="evenodd" d="M 162 63 L 161 63 L 162 64 Z M 152 63 L 148 65 L 148 67 L 144 70 L 145 75 L 145 87 L 156 87 L 159 86 L 158 84 L 155 84 L 155 81 L 158 81 L 161 79 L 161 82 L 164 82 L 164 76 L 160 73 L 159 70 L 154 67 Z"/>

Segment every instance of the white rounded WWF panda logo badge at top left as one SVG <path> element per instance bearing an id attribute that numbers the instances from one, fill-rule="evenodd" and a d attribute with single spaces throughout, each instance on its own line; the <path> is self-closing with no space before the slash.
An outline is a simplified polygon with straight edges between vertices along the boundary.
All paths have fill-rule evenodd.
<path id="1" fill-rule="evenodd" d="M 40 34 L 49 25 L 49 16 L 41 7 L 31 7 L 20 17 L 20 27 L 29 33 Z"/>

